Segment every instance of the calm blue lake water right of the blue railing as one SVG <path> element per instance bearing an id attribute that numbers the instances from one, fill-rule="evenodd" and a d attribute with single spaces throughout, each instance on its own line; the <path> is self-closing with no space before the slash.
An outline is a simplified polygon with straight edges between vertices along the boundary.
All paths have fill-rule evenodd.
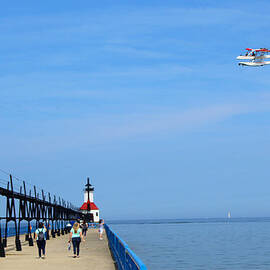
<path id="1" fill-rule="evenodd" d="M 150 270 L 270 269 L 270 219 L 109 222 Z"/>

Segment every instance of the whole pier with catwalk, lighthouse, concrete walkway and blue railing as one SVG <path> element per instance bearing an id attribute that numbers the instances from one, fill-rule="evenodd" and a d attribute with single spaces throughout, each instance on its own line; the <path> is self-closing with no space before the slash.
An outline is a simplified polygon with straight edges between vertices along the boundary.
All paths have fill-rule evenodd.
<path id="1" fill-rule="evenodd" d="M 68 250 L 67 224 L 78 219 L 88 222 L 99 217 L 91 194 L 93 188 L 85 190 L 84 204 L 87 207 L 82 211 L 49 192 L 37 192 L 36 186 L 28 184 L 27 188 L 27 183 L 18 178 L 15 179 L 19 185 L 14 185 L 12 175 L 7 175 L 8 178 L 0 181 L 0 207 L 5 213 L 5 216 L 0 216 L 1 269 L 146 269 L 140 258 L 106 224 L 103 240 L 99 239 L 96 228 L 89 228 L 85 241 L 81 242 L 80 258 L 73 258 L 72 248 Z M 90 186 L 89 179 L 87 186 Z M 38 257 L 33 239 L 39 222 L 48 229 L 45 259 Z"/>

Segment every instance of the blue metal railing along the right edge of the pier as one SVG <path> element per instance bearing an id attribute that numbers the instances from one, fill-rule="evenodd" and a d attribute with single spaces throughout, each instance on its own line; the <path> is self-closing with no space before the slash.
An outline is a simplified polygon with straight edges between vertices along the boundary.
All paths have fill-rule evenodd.
<path id="1" fill-rule="evenodd" d="M 141 259 L 105 224 L 109 246 L 119 270 L 147 270 Z"/>

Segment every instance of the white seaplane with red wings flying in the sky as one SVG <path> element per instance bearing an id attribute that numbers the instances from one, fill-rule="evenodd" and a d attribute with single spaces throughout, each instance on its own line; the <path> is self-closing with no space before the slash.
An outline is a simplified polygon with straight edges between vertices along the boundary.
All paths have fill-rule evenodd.
<path id="1" fill-rule="evenodd" d="M 248 60 L 245 62 L 239 62 L 239 66 L 251 66 L 259 67 L 264 65 L 269 65 L 270 61 L 265 61 L 265 59 L 270 59 L 270 50 L 266 48 L 251 49 L 246 48 L 246 53 L 244 55 L 239 55 L 236 57 L 237 60 Z"/>

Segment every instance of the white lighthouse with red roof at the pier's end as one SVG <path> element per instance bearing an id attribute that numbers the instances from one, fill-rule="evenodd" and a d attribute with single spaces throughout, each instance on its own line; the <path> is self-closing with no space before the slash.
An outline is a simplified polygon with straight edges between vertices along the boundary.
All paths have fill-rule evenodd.
<path id="1" fill-rule="evenodd" d="M 80 210 L 83 214 L 89 215 L 92 222 L 99 222 L 99 209 L 94 203 L 94 187 L 90 184 L 89 177 L 84 189 L 84 203 Z"/>

